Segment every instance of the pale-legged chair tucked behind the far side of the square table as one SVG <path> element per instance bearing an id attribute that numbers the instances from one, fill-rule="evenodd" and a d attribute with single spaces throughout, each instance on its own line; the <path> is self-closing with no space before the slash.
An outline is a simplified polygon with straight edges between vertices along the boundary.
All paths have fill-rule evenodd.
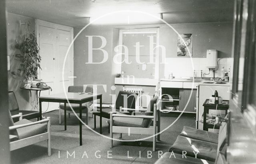
<path id="1" fill-rule="evenodd" d="M 87 86 L 84 90 L 84 86 L 69 86 L 68 92 L 79 93 L 79 92 L 86 92 L 86 93 L 93 93 L 93 88 L 91 86 Z M 76 113 L 79 113 L 80 105 L 77 103 L 70 103 L 71 107 Z M 66 111 L 68 113 L 68 117 L 70 117 L 70 113 L 73 113 L 71 107 L 68 103 L 66 103 Z M 86 102 L 82 104 L 82 113 L 86 113 L 86 125 L 88 125 L 89 119 L 89 111 L 92 109 L 92 102 Z M 64 103 L 60 103 L 59 107 L 59 124 L 62 123 L 61 121 L 61 111 L 64 111 Z"/>

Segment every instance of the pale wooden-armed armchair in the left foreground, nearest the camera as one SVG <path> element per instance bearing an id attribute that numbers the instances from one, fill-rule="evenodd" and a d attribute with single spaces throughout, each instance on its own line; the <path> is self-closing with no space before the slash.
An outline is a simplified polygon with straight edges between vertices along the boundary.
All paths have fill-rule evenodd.
<path id="1" fill-rule="evenodd" d="M 13 118 L 19 121 L 14 123 Z M 10 151 L 47 140 L 48 156 L 51 156 L 50 117 L 32 122 L 22 119 L 22 113 L 11 115 L 9 111 L 9 122 Z"/>

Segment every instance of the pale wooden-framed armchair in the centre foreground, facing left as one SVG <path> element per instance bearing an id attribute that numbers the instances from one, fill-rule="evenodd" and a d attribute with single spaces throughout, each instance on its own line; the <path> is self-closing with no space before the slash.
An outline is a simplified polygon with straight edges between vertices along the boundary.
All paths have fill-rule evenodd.
<path id="1" fill-rule="evenodd" d="M 150 111 L 148 111 L 150 109 Z M 110 113 L 110 138 L 113 138 L 113 133 L 139 134 L 139 135 L 152 135 L 153 137 L 153 151 L 156 150 L 156 137 L 160 137 L 160 129 L 157 130 L 157 126 L 160 125 L 160 117 L 158 115 L 160 109 L 160 101 L 158 96 L 154 96 L 150 100 L 148 109 L 128 109 L 120 107 L 118 113 Z M 127 115 L 122 111 L 142 111 L 141 115 Z M 153 127 L 151 126 L 153 120 Z M 159 140 L 159 139 L 158 139 Z M 113 139 L 110 140 L 110 148 L 113 147 Z"/>

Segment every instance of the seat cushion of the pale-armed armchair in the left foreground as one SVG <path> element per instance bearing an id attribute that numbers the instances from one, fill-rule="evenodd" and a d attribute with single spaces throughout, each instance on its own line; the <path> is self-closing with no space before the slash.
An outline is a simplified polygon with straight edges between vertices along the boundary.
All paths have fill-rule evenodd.
<path id="1" fill-rule="evenodd" d="M 23 125 L 26 123 L 32 123 L 32 121 L 29 121 L 27 119 L 22 119 L 16 123 L 14 123 L 14 125 Z M 34 135 L 39 135 L 46 131 L 47 131 L 46 123 L 39 123 L 36 125 L 30 125 L 28 127 L 22 127 L 22 128 L 17 129 L 19 139 L 24 139 L 24 138 L 31 137 Z"/>

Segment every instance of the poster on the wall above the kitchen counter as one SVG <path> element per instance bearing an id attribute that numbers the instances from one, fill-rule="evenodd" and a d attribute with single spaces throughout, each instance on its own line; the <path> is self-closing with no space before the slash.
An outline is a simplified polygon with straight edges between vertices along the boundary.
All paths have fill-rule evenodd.
<path id="1" fill-rule="evenodd" d="M 184 42 L 182 41 L 180 36 L 182 37 Z M 177 56 L 192 56 L 192 33 L 180 34 L 180 36 L 178 35 Z M 188 52 L 188 50 L 190 51 L 190 53 Z"/>

